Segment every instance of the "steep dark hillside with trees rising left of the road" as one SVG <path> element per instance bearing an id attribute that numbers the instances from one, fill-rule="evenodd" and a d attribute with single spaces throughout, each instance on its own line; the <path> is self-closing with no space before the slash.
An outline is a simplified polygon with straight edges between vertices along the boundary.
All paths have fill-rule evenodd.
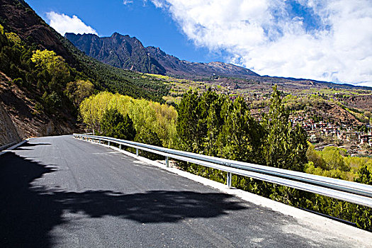
<path id="1" fill-rule="evenodd" d="M 94 91 L 154 101 L 168 94 L 163 81 L 84 55 L 25 1 L 0 0 L 0 6 L 0 108 L 6 125 L 0 147 L 19 138 L 79 131 L 78 103 Z"/>

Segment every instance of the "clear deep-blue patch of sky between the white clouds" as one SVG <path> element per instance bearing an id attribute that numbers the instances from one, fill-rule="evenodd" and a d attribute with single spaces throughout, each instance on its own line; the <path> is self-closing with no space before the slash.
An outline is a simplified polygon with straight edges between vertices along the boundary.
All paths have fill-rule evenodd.
<path id="1" fill-rule="evenodd" d="M 91 26 L 99 36 L 111 36 L 114 32 L 135 36 L 145 46 L 160 47 L 164 52 L 193 62 L 222 61 L 216 52 L 207 47 L 196 47 L 181 33 L 169 13 L 157 9 L 151 2 L 108 0 L 26 0 L 47 23 L 50 11 L 77 16 Z"/>

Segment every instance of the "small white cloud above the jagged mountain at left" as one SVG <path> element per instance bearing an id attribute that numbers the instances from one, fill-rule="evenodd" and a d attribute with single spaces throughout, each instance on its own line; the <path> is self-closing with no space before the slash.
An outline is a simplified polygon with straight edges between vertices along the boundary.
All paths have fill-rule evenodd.
<path id="1" fill-rule="evenodd" d="M 91 26 L 87 26 L 77 16 L 69 17 L 64 13 L 60 14 L 54 11 L 47 12 L 46 14 L 49 19 L 49 25 L 61 35 L 64 35 L 64 33 L 94 33 L 98 35 L 96 30 L 91 28 Z"/>

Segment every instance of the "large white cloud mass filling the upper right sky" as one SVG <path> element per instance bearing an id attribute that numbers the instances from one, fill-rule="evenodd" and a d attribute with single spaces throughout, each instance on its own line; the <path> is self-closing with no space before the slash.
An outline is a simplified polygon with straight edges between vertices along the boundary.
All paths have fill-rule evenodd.
<path id="1" fill-rule="evenodd" d="M 228 52 L 227 62 L 262 75 L 372 86 L 370 0 L 296 0 L 315 16 L 310 28 L 290 1 L 151 1 L 196 45 Z"/>

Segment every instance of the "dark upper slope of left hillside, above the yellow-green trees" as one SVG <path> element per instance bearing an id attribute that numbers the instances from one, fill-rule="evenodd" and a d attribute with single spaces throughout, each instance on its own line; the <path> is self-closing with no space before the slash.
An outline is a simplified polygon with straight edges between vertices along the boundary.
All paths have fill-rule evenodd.
<path id="1" fill-rule="evenodd" d="M 154 101 L 161 101 L 161 96 L 167 94 L 167 86 L 154 78 L 118 70 L 84 55 L 84 52 L 78 50 L 62 35 L 50 28 L 25 1 L 0 0 L 0 5 L 0 24 L 6 30 L 19 35 L 28 45 L 55 51 L 71 67 L 87 74 L 96 89 L 108 89 Z"/>

